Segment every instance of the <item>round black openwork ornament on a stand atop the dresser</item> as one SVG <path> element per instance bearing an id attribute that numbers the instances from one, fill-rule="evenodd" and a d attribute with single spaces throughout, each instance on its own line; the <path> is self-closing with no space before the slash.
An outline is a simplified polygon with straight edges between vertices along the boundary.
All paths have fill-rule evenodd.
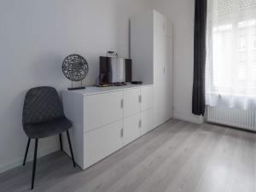
<path id="1" fill-rule="evenodd" d="M 62 72 L 67 79 L 72 81 L 72 88 L 69 90 L 85 89 L 85 87 L 82 87 L 82 81 L 85 79 L 88 71 L 88 63 L 81 55 L 68 55 L 62 63 Z M 73 88 L 73 81 L 81 81 L 81 87 Z"/>

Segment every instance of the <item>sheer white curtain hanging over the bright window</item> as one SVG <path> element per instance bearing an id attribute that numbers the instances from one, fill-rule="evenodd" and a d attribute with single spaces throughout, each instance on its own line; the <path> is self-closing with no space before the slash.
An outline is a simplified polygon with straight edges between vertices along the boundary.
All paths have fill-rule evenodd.
<path id="1" fill-rule="evenodd" d="M 256 0 L 208 0 L 206 102 L 256 107 Z"/>

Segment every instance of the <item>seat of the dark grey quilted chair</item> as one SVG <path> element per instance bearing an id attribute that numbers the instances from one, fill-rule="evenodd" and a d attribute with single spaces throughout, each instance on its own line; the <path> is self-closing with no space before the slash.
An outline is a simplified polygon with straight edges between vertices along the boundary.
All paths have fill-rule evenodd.
<path id="1" fill-rule="evenodd" d="M 72 123 L 66 117 L 52 119 L 40 123 L 24 125 L 27 137 L 44 138 L 54 136 L 72 127 Z"/>

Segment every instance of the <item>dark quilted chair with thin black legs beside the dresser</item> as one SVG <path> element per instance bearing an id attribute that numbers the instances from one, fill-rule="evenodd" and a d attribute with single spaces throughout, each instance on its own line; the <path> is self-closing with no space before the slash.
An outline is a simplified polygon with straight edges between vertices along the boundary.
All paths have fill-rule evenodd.
<path id="1" fill-rule="evenodd" d="M 22 125 L 28 137 L 23 166 L 25 166 L 26 163 L 26 155 L 31 139 L 35 139 L 31 189 L 34 187 L 38 154 L 38 139 L 59 134 L 62 150 L 61 133 L 66 131 L 73 166 L 76 166 L 68 132 L 68 130 L 72 127 L 72 123 L 65 117 L 61 101 L 57 91 L 54 88 L 37 87 L 28 90 L 23 107 Z"/>

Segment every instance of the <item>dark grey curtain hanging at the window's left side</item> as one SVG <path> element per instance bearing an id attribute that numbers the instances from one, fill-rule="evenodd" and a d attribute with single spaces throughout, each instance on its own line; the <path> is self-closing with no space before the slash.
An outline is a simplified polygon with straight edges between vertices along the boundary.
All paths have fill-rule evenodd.
<path id="1" fill-rule="evenodd" d="M 194 84 L 192 113 L 204 115 L 207 37 L 207 0 L 195 0 Z"/>

